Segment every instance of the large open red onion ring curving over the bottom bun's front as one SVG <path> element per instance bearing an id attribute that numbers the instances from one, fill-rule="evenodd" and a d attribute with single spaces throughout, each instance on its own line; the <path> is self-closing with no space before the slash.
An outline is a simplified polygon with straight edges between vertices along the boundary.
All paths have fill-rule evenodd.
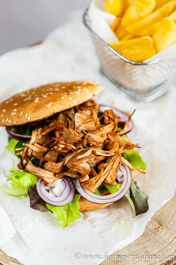
<path id="1" fill-rule="evenodd" d="M 124 176 L 123 184 L 117 192 L 111 195 L 100 196 L 88 191 L 87 189 L 83 189 L 79 179 L 75 179 L 75 187 L 82 197 L 93 203 L 106 204 L 118 201 L 127 193 L 132 181 L 131 171 L 129 167 L 122 163 L 120 168 Z"/>

